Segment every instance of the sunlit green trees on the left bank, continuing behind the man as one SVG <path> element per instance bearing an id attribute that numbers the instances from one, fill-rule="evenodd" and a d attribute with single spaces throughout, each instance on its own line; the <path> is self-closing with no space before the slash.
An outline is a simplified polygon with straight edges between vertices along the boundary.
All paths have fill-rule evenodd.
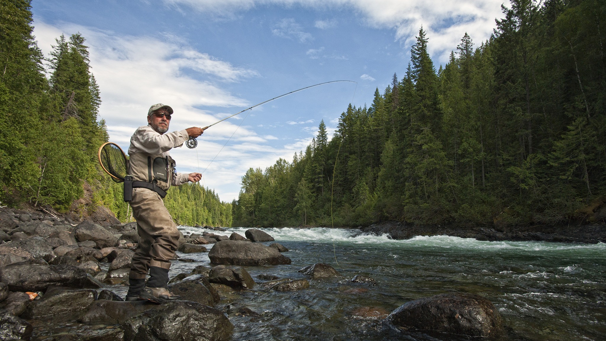
<path id="1" fill-rule="evenodd" d="M 30 8 L 30 0 L 0 1 L 0 206 L 85 215 L 105 205 L 121 221 L 132 220 L 122 184 L 99 167 L 98 150 L 109 137 L 98 119 L 101 96 L 85 39 L 62 35 L 44 58 Z M 76 200 L 84 188 L 90 202 L 83 204 Z M 231 204 L 197 184 L 173 187 L 165 203 L 178 224 L 231 223 Z"/>

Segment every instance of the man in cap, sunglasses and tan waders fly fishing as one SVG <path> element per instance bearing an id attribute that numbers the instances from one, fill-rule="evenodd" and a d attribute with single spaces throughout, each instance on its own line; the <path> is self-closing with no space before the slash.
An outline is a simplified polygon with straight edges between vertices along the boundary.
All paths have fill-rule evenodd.
<path id="1" fill-rule="evenodd" d="M 173 109 L 154 104 L 147 112 L 147 126 L 138 127 L 130 138 L 128 174 L 133 176 L 130 207 L 137 221 L 139 245 L 130 265 L 127 301 L 150 300 L 163 303 L 178 300 L 168 291 L 168 269 L 178 247 L 179 231 L 164 207 L 170 185 L 197 182 L 202 174 L 181 174 L 168 150 L 181 147 L 188 138 L 204 133 L 199 127 L 167 133 Z M 145 283 L 147 272 L 150 278 Z"/>

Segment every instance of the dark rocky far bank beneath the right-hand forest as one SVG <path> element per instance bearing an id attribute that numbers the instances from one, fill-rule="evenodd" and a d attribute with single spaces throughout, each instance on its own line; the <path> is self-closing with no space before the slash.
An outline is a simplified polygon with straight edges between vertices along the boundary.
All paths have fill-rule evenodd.
<path id="1" fill-rule="evenodd" d="M 387 234 L 393 239 L 409 239 L 416 235 L 450 235 L 486 241 L 556 241 L 566 243 L 606 243 L 606 225 L 534 225 L 512 228 L 493 226 L 416 225 L 399 221 L 384 221 L 367 227 L 362 232 Z"/>

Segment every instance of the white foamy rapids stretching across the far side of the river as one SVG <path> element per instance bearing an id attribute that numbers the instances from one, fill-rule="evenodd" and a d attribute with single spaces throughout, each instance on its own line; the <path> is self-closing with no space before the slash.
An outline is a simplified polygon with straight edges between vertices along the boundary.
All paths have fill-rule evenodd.
<path id="1" fill-rule="evenodd" d="M 237 232 L 245 235 L 247 228 L 230 228 L 227 232 L 217 232 L 202 228 L 182 226 L 182 231 L 202 233 L 205 231 L 216 234 L 231 234 Z M 357 229 L 331 229 L 331 228 L 262 228 L 276 241 L 308 241 L 311 243 L 334 243 L 339 246 L 346 245 L 373 245 L 394 248 L 444 248 L 451 251 L 487 251 L 487 252 L 555 252 L 595 255 L 604 257 L 606 243 L 553 243 L 542 241 L 481 241 L 474 238 L 450 237 L 448 235 L 416 236 L 407 240 L 390 239 L 387 234 L 364 234 Z"/>

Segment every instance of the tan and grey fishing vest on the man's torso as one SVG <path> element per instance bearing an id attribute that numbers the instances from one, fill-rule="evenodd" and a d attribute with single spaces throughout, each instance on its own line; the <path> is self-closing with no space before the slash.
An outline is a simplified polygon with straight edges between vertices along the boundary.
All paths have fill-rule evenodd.
<path id="1" fill-rule="evenodd" d="M 128 160 L 128 174 L 133 188 L 151 189 L 164 198 L 176 174 L 175 160 L 162 154 L 133 153 Z"/>

